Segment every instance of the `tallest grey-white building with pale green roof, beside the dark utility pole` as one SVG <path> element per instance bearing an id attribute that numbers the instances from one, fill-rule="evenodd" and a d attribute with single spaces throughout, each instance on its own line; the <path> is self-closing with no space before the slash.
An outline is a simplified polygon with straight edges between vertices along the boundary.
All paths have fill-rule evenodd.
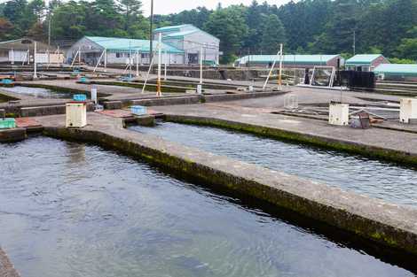
<path id="1" fill-rule="evenodd" d="M 161 27 L 153 30 L 153 39 L 183 50 L 185 64 L 198 64 L 202 59 L 205 64 L 217 65 L 220 56 L 220 40 L 191 24 Z"/>

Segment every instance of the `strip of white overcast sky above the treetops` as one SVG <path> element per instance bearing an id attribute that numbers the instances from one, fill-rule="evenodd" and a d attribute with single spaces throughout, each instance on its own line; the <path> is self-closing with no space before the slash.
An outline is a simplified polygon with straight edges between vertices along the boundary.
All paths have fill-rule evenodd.
<path id="1" fill-rule="evenodd" d="M 169 14 L 175 12 L 181 12 L 184 10 L 191 10 L 198 6 L 205 6 L 209 9 L 216 8 L 217 4 L 221 2 L 223 7 L 231 4 L 245 4 L 248 5 L 252 0 L 153 0 L 154 13 L 157 14 Z M 257 0 L 259 4 L 264 0 Z M 281 5 L 289 2 L 289 0 L 268 0 L 269 4 Z M 149 15 L 151 10 L 151 0 L 142 0 L 144 4 L 143 10 L 146 15 Z"/>

